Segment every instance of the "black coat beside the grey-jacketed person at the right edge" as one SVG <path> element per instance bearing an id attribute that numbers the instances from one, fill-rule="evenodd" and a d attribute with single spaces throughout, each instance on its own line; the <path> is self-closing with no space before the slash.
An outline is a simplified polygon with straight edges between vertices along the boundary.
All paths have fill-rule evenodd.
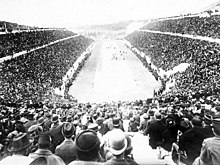
<path id="1" fill-rule="evenodd" d="M 187 159 L 185 164 L 192 164 L 200 155 L 203 140 L 208 138 L 207 130 L 201 127 L 193 127 L 186 131 L 179 139 L 180 151 L 186 151 Z"/>

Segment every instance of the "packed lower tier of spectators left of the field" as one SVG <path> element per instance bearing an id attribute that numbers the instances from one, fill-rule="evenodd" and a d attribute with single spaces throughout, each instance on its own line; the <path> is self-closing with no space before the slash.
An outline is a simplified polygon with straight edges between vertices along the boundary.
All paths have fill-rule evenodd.
<path id="1" fill-rule="evenodd" d="M 91 42 L 79 36 L 1 63 L 0 95 L 14 103 L 49 96 L 48 91 L 62 85 L 66 72 Z"/>

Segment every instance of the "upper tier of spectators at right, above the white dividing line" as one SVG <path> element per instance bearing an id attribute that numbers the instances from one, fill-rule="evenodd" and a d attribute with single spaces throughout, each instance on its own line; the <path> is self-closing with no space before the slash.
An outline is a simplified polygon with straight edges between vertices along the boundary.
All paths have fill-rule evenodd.
<path id="1" fill-rule="evenodd" d="M 220 15 L 184 17 L 151 22 L 143 29 L 220 38 Z"/>

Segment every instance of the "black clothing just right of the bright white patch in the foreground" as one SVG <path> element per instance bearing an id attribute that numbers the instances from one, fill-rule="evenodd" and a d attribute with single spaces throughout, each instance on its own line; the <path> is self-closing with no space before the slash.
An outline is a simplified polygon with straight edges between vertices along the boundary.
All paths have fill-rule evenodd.
<path id="1" fill-rule="evenodd" d="M 163 132 L 166 129 L 166 125 L 162 122 L 162 120 L 158 120 L 146 129 L 144 135 L 149 134 L 149 145 L 152 149 L 156 149 L 158 146 L 161 146 L 163 142 Z"/>

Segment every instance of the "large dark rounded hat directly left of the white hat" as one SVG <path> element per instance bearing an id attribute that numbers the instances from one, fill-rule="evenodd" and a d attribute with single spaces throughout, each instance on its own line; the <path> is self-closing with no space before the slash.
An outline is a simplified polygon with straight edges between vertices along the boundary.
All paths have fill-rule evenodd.
<path id="1" fill-rule="evenodd" d="M 90 152 L 97 149 L 100 145 L 100 140 L 96 132 L 85 130 L 76 137 L 76 149 L 81 152 Z"/>

